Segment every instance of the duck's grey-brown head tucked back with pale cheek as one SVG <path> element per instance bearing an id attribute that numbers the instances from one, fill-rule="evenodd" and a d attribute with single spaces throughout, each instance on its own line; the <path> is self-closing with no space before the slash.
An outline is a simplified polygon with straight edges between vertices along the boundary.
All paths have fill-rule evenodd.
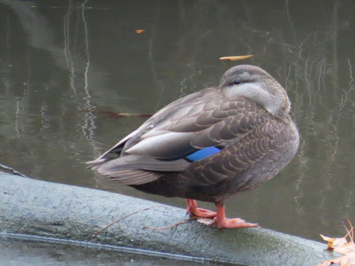
<path id="1" fill-rule="evenodd" d="M 290 111 L 284 88 L 260 67 L 240 65 L 230 68 L 223 74 L 219 90 L 226 97 L 249 98 L 279 118 L 287 117 Z"/>

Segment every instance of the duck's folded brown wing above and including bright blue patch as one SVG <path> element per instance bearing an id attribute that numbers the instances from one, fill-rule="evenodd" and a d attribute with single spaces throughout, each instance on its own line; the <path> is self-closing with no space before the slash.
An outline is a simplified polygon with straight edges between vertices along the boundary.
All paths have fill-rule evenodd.
<path id="1" fill-rule="evenodd" d="M 200 151 L 202 159 L 203 154 L 213 154 L 213 147 L 223 149 L 271 117 L 249 99 L 230 100 L 216 93 L 212 99 L 197 99 L 157 123 L 148 124 L 148 130 L 138 129 L 127 141 L 123 153 L 178 160 L 205 150 L 206 153 Z M 195 156 L 192 161 L 198 158 Z"/>

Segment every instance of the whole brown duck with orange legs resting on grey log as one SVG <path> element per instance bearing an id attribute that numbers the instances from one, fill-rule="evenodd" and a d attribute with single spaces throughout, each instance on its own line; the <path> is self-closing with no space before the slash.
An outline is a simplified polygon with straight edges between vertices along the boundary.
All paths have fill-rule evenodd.
<path id="1" fill-rule="evenodd" d="M 252 65 L 227 70 L 218 87 L 171 102 L 88 168 L 140 191 L 186 199 L 186 212 L 215 228 L 258 227 L 226 218 L 224 203 L 259 187 L 299 147 L 285 89 Z M 196 200 L 214 203 L 216 212 Z"/>

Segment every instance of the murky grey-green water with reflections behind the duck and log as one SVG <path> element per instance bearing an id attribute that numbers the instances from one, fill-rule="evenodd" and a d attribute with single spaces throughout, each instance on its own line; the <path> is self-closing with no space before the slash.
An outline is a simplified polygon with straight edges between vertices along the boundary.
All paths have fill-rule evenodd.
<path id="1" fill-rule="evenodd" d="M 185 207 L 85 170 L 145 119 L 86 111 L 152 114 L 236 64 L 258 65 L 285 86 L 300 149 L 272 181 L 228 201 L 227 215 L 340 237 L 342 221 L 355 222 L 354 13 L 352 1 L 2 0 L 0 163 Z"/>

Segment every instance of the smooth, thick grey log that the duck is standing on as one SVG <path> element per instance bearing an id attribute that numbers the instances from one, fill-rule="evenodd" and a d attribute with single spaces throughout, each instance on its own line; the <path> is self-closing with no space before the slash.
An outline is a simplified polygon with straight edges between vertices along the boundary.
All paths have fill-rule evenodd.
<path id="1" fill-rule="evenodd" d="M 109 227 L 111 221 L 144 208 Z M 241 265 L 316 265 L 338 254 L 326 244 L 263 228 L 218 230 L 185 210 L 100 190 L 0 172 L 0 232 L 163 252 Z"/>

